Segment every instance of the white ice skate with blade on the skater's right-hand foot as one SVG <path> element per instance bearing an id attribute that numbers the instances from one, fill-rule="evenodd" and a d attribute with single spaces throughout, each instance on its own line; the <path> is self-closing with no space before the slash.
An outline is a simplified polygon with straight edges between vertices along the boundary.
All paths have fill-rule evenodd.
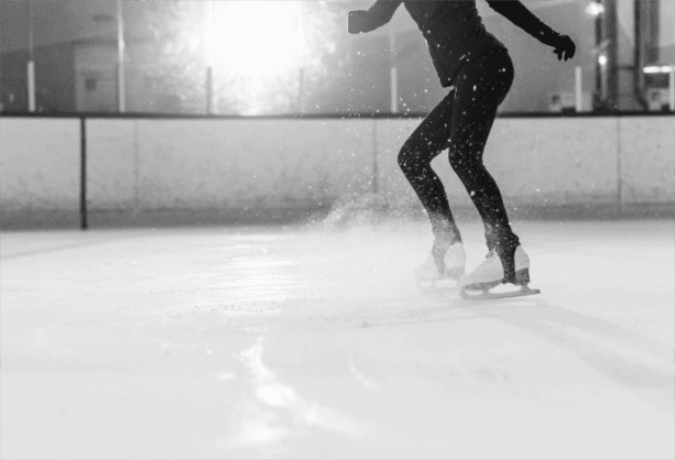
<path id="1" fill-rule="evenodd" d="M 505 258 L 505 262 L 502 262 Z M 472 272 L 459 280 L 461 297 L 466 299 L 490 299 L 504 297 L 520 297 L 540 294 L 538 289 L 531 289 L 530 283 L 530 258 L 518 247 L 510 260 L 509 254 L 500 254 L 491 250 L 486 260 Z M 504 272 L 504 265 L 511 270 Z M 518 289 L 509 289 L 512 284 Z"/>

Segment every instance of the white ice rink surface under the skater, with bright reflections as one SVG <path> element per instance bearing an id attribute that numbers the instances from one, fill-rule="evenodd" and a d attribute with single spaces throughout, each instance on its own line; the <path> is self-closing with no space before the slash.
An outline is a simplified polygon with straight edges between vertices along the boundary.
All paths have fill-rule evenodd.
<path id="1" fill-rule="evenodd" d="M 0 454 L 673 458 L 674 222 L 514 229 L 488 302 L 424 223 L 3 232 Z"/>

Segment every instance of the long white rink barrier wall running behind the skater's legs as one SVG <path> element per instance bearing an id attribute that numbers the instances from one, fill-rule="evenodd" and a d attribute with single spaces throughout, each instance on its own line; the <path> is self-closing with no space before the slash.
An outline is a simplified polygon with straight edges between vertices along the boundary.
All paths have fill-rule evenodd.
<path id="1" fill-rule="evenodd" d="M 2 227 L 68 215 L 86 228 L 106 212 L 292 215 L 372 194 L 414 207 L 396 155 L 420 121 L 2 114 Z M 502 114 L 485 161 L 512 210 L 675 204 L 668 114 Z M 446 154 L 433 166 L 453 206 L 470 208 Z"/>

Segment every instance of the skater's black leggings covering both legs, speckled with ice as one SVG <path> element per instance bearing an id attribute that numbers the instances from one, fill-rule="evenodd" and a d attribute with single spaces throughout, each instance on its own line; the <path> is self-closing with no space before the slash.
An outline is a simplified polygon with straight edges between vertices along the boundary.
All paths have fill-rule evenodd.
<path id="1" fill-rule="evenodd" d="M 467 64 L 450 92 L 405 141 L 399 165 L 427 211 L 436 240 L 461 241 L 443 184 L 431 162 L 446 149 L 449 161 L 478 209 L 489 249 L 514 249 L 518 237 L 497 183 L 482 162 L 497 108 L 513 83 L 513 63 L 496 50 Z"/>

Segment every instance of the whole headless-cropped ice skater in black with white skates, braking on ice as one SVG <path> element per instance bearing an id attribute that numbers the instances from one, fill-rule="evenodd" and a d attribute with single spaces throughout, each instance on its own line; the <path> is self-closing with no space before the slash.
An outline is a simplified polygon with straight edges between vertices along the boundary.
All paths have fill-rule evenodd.
<path id="1" fill-rule="evenodd" d="M 558 59 L 574 57 L 576 46 L 571 39 L 553 31 L 519 0 L 486 1 L 552 46 Z M 349 33 L 370 32 L 387 24 L 401 3 L 427 42 L 440 85 L 449 88 L 399 154 L 399 165 L 426 209 L 434 233 L 431 253 L 415 274 L 420 281 L 456 280 L 465 296 L 469 292 L 480 293 L 481 298 L 494 296 L 489 289 L 500 284 L 521 286 L 511 295 L 531 294 L 530 259 L 511 229 L 499 187 L 482 162 L 497 108 L 513 83 L 509 52 L 486 30 L 475 0 L 378 0 L 369 10 L 349 12 Z M 432 160 L 446 149 L 486 229 L 488 255 L 467 274 L 461 234 L 443 184 L 431 166 Z"/>

